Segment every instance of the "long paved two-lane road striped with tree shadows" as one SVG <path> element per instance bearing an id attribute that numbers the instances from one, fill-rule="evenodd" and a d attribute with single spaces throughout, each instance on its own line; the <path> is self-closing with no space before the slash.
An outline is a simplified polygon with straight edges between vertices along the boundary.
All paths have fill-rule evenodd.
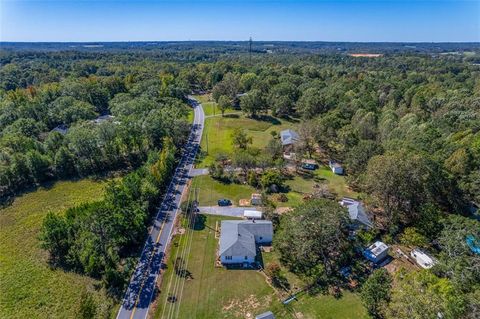
<path id="1" fill-rule="evenodd" d="M 152 230 L 145 242 L 140 260 L 130 279 L 117 319 L 145 319 L 155 291 L 155 283 L 164 265 L 165 250 L 172 238 L 175 218 L 186 182 L 202 138 L 205 114 L 201 104 L 191 100 L 195 117 L 188 143 L 175 170 L 163 202 L 154 220 Z"/>

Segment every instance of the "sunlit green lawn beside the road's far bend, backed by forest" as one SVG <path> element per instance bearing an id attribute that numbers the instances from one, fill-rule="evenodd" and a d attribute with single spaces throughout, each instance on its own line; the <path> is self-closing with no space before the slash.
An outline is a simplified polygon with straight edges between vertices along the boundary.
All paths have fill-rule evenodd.
<path id="1" fill-rule="evenodd" d="M 238 114 L 207 118 L 201 143 L 205 155 L 197 166 L 208 166 L 214 161 L 216 154 L 232 154 L 232 133 L 236 128 L 244 129 L 245 133 L 252 137 L 252 146 L 264 148 L 272 137 L 272 131 L 280 133 L 281 130 L 293 128 L 295 125 L 296 123 L 271 117 L 268 120 L 257 120 Z"/>

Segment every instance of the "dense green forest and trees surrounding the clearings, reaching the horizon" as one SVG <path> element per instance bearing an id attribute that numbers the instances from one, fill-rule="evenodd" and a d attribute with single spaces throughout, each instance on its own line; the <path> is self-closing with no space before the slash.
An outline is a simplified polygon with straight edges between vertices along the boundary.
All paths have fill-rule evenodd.
<path id="1" fill-rule="evenodd" d="M 3 51 L 0 197 L 52 179 L 132 171 L 110 186 L 101 203 L 65 217 L 49 215 L 43 234 L 58 263 L 115 282 L 112 273 L 128 273 L 119 260 L 141 241 L 147 212 L 173 165 L 171 154 L 187 137 L 186 95 L 212 92 L 221 110 L 238 106 L 252 118 L 302 121 L 297 152 L 309 157 L 318 145 L 343 163 L 350 187 L 375 212 L 375 230 L 363 239 L 382 235 L 435 252 L 439 263 L 431 271 L 399 274 L 395 284 L 383 271 L 374 272 L 362 290 L 373 317 L 422 318 L 428 309 L 429 318 L 478 318 L 480 255 L 465 243 L 468 235 L 480 239 L 480 223 L 472 217 L 480 203 L 478 47 L 468 48 L 477 51 L 469 57 L 377 46 L 372 50 L 384 56 L 357 58 L 309 49 L 251 55 L 243 49 L 217 54 L 218 47 Z M 106 115 L 111 117 L 99 120 Z M 262 156 L 248 151 L 242 132 L 235 139 L 240 150 L 233 162 L 248 176 Z M 272 140 L 269 159 L 278 153 Z M 275 165 L 266 163 L 272 169 L 252 183 L 281 184 Z M 220 166 L 210 169 L 222 179 Z M 337 206 L 316 199 L 276 217 L 282 262 L 309 283 L 328 281 L 353 254 Z M 143 213 L 126 219 L 123 207 Z M 107 211 L 117 212 L 118 220 L 100 218 Z M 322 219 L 330 226 L 309 226 Z M 295 245 L 306 229 L 317 236 Z M 104 230 L 112 231 L 111 241 L 103 241 Z M 344 247 L 343 254 L 332 246 Z"/>

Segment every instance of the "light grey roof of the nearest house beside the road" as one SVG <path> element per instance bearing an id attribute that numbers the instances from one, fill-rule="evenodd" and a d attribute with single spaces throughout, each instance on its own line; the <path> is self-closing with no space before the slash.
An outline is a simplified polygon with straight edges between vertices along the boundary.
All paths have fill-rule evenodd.
<path id="1" fill-rule="evenodd" d="M 268 237 L 273 234 L 271 221 L 224 220 L 220 230 L 219 255 L 255 256 L 255 236 Z"/>

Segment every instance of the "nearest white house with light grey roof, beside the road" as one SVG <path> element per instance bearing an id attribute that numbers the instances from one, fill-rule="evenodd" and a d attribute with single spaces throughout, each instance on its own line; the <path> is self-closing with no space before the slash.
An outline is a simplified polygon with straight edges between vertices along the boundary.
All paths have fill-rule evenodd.
<path id="1" fill-rule="evenodd" d="M 223 220 L 218 255 L 222 264 L 251 264 L 257 244 L 272 242 L 273 225 L 267 220 Z"/>

